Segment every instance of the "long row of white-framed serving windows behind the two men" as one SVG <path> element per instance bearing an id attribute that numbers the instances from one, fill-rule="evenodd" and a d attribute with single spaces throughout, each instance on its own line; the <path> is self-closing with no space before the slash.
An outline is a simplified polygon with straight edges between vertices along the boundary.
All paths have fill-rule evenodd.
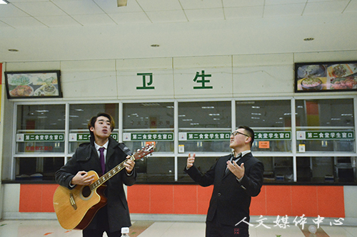
<path id="1" fill-rule="evenodd" d="M 112 137 L 133 152 L 156 142 L 153 154 L 136 160 L 138 182 L 193 183 L 183 172 L 188 153 L 196 153 L 196 165 L 205 172 L 231 152 L 231 132 L 248 125 L 255 132 L 252 152 L 265 166 L 266 183 L 355 184 L 355 101 L 15 103 L 13 167 L 6 179 L 54 181 L 54 172 L 79 144 L 89 142 L 89 119 L 107 112 L 116 123 Z"/>

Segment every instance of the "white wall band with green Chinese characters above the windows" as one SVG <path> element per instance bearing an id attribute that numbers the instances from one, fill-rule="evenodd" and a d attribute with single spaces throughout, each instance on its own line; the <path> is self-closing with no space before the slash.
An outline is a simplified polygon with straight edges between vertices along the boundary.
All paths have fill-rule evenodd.
<path id="1" fill-rule="evenodd" d="M 357 51 L 6 63 L 4 70 L 61 70 L 60 100 L 141 100 L 293 96 L 293 63 L 356 60 Z M 193 90 L 196 72 L 212 90 Z M 154 90 L 137 73 L 153 73 Z M 346 94 L 346 93 L 345 93 Z M 327 95 L 324 93 L 324 95 Z M 334 93 L 336 95 L 336 93 Z M 17 100 L 20 101 L 20 100 Z M 43 101 L 43 100 L 42 100 Z"/>

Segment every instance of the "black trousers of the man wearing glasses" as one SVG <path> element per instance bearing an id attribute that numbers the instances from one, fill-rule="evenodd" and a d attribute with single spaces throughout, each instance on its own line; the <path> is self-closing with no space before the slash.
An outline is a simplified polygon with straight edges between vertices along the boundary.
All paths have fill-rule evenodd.
<path id="1" fill-rule="evenodd" d="M 249 237 L 249 233 L 248 228 L 219 223 L 214 216 L 213 221 L 206 221 L 206 237 Z"/>

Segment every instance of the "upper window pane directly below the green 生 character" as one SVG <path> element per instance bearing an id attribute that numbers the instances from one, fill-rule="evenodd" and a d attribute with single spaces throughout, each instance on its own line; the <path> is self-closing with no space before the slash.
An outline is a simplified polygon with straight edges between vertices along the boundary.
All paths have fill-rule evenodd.
<path id="1" fill-rule="evenodd" d="M 230 152 L 231 126 L 231 101 L 178 103 L 178 144 L 185 152 Z"/>

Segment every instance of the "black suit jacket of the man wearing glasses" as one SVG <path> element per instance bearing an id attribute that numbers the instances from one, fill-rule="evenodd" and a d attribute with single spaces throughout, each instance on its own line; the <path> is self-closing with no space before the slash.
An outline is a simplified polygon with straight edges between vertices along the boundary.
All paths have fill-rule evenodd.
<path id="1" fill-rule="evenodd" d="M 225 174 L 226 162 L 230 158 L 231 154 L 220 157 L 205 174 L 202 174 L 194 165 L 190 169 L 185 168 L 185 172 L 201 186 L 214 185 L 207 221 L 212 221 L 216 215 L 217 220 L 223 225 L 235 226 L 241 221 L 237 228 L 248 228 L 248 224 L 244 221 L 249 221 L 251 197 L 257 196 L 261 191 L 263 163 L 251 153 L 241 157 L 237 164 L 244 163 L 245 174 L 239 182 L 229 170 Z"/>

